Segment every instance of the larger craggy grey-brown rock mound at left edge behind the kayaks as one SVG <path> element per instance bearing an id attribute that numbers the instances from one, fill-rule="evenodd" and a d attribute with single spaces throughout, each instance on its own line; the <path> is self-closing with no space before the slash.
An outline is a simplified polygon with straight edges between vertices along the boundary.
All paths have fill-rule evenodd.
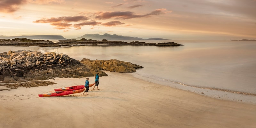
<path id="1" fill-rule="evenodd" d="M 103 71 L 92 69 L 66 54 L 37 51 L 9 51 L 0 53 L 0 83 L 46 80 L 53 77 L 86 77 Z"/>

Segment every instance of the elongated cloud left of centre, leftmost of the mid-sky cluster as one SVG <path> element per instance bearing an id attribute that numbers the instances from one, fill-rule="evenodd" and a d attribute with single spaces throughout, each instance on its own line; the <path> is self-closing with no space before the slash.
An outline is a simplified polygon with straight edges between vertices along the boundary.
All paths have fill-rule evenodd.
<path id="1" fill-rule="evenodd" d="M 36 20 L 34 23 L 54 23 L 54 22 L 77 22 L 88 20 L 88 17 L 85 16 L 62 16 L 58 18 L 43 18 L 41 20 Z"/>

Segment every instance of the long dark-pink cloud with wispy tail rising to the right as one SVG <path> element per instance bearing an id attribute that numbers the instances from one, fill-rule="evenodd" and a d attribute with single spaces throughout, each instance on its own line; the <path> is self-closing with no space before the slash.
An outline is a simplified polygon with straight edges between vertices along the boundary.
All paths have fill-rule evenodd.
<path id="1" fill-rule="evenodd" d="M 150 17 L 152 15 L 160 15 L 160 14 L 164 14 L 170 11 L 166 11 L 166 9 L 162 8 L 162 9 L 156 9 L 153 12 L 150 12 L 148 14 L 145 15 L 139 15 L 139 14 L 135 14 L 134 12 L 120 12 L 120 11 L 116 11 L 116 12 L 98 12 L 96 13 L 96 19 L 110 19 L 110 18 L 115 18 L 115 19 L 132 19 L 132 18 L 140 18 L 140 17 Z"/>

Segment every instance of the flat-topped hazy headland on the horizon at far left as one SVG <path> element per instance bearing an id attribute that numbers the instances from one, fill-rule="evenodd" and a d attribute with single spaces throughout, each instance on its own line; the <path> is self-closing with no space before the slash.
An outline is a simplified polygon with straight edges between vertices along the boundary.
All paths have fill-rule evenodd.
<path id="1" fill-rule="evenodd" d="M 63 36 L 60 35 L 31 35 L 31 36 L 0 36 L 0 39 L 14 39 L 14 38 L 27 38 L 27 39 L 32 39 L 32 40 L 64 40 Z"/>

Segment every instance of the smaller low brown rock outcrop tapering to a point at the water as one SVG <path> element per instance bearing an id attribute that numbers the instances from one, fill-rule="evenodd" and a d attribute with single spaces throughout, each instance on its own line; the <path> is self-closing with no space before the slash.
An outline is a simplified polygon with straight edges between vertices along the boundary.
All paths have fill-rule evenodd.
<path id="1" fill-rule="evenodd" d="M 137 64 L 124 62 L 120 60 L 89 60 L 83 59 L 81 63 L 88 65 L 94 69 L 105 70 L 110 72 L 130 73 L 136 72 L 136 69 L 143 68 Z"/>

